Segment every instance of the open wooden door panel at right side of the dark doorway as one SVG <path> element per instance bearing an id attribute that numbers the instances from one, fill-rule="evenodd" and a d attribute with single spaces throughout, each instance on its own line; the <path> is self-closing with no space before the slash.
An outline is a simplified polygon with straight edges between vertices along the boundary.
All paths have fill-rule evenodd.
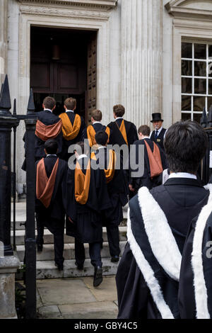
<path id="1" fill-rule="evenodd" d="M 90 123 L 91 111 L 96 108 L 96 80 L 97 79 L 97 33 L 93 33 L 90 41 L 88 43 L 88 89 L 87 89 L 87 99 L 88 99 L 88 110 L 87 110 L 87 120 Z"/>

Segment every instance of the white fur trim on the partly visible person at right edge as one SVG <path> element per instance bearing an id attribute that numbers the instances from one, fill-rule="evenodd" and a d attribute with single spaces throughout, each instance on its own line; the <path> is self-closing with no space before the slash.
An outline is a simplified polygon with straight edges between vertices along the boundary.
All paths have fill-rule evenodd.
<path id="1" fill-rule="evenodd" d="M 208 204 L 202 208 L 199 218 L 196 221 L 192 251 L 192 269 L 194 272 L 194 295 L 196 300 L 197 319 L 210 319 L 208 311 L 208 294 L 202 260 L 202 242 L 206 222 L 212 211 L 212 184 L 208 184 L 205 188 L 210 191 L 210 195 L 208 198 Z"/>

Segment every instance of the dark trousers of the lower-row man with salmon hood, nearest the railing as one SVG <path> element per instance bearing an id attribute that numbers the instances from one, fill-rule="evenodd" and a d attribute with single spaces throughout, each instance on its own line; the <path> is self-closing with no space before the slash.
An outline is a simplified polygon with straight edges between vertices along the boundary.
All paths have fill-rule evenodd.
<path id="1" fill-rule="evenodd" d="M 57 220 L 54 218 L 49 218 L 49 216 L 36 213 L 37 220 L 37 244 L 43 244 L 44 229 L 52 232 L 54 235 L 54 261 L 56 264 L 63 264 L 64 257 L 64 219 Z"/>

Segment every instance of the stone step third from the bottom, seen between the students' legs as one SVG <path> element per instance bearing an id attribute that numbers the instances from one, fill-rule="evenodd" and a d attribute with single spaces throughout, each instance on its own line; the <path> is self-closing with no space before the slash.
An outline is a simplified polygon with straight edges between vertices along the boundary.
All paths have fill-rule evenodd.
<path id="1" fill-rule="evenodd" d="M 37 230 L 35 230 L 35 235 L 37 235 Z M 16 230 L 16 245 L 24 245 L 24 237 L 25 230 Z M 103 241 L 107 242 L 107 232 L 105 227 L 103 227 L 102 237 Z M 120 242 L 126 241 L 126 227 L 119 227 L 119 240 Z M 44 242 L 45 244 L 54 244 L 54 236 L 47 229 L 45 229 L 44 232 Z M 64 243 L 74 243 L 74 238 L 64 235 Z M 13 244 L 13 231 L 11 231 L 11 244 Z"/>

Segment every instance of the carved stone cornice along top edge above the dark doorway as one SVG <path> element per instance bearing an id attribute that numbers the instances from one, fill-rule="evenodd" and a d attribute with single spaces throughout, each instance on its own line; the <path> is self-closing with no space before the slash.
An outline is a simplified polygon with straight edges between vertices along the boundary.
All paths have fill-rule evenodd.
<path id="1" fill-rule="evenodd" d="M 21 4 L 43 4 L 48 6 L 81 6 L 97 9 L 112 9 L 118 0 L 17 0 Z"/>

